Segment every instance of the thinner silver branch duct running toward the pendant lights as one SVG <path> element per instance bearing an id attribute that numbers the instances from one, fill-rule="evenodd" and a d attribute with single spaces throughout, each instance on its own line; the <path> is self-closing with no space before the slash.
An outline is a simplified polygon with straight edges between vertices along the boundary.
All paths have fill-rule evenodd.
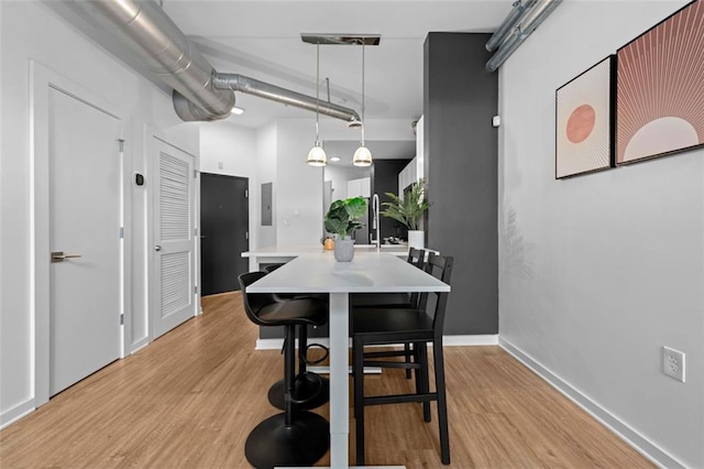
<path id="1" fill-rule="evenodd" d="M 350 124 L 356 124 L 361 121 L 360 116 L 353 109 L 333 105 L 329 101 L 317 101 L 314 97 L 242 75 L 216 73 L 212 83 L 219 89 L 246 92 L 248 95 L 258 96 L 260 98 L 295 106 L 312 112 L 317 110 L 321 114 L 348 121 Z"/>

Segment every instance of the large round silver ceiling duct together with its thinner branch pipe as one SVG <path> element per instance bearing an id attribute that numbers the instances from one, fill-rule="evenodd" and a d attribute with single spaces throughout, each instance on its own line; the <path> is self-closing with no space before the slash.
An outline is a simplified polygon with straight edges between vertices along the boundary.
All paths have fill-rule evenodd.
<path id="1" fill-rule="evenodd" d="M 239 75 L 218 74 L 155 1 L 74 0 L 66 4 L 119 39 L 129 54 L 172 87 L 174 109 L 185 121 L 228 118 L 234 107 L 232 91 L 315 110 L 316 98 Z M 331 102 L 321 101 L 320 112 L 348 122 L 359 120 L 354 110 Z"/>

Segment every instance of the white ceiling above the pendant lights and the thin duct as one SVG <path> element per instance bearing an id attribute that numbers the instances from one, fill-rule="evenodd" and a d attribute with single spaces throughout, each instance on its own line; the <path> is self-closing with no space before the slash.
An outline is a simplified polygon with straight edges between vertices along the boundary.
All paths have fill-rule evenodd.
<path id="1" fill-rule="evenodd" d="M 366 120 L 417 120 L 422 113 L 424 41 L 428 32 L 492 32 L 512 0 L 163 0 L 163 8 L 221 73 L 233 73 L 316 95 L 316 46 L 301 33 L 381 34 L 365 47 Z M 326 78 L 329 80 L 326 80 Z M 320 99 L 362 114 L 362 47 L 320 46 Z M 242 116 L 257 128 L 277 118 L 311 117 L 238 92 Z M 321 116 L 322 119 L 330 119 Z"/>

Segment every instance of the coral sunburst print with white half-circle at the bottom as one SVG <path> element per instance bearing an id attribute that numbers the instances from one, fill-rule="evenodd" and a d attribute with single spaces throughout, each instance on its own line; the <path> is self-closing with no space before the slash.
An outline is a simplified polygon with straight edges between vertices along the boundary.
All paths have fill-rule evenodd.
<path id="1" fill-rule="evenodd" d="M 704 0 L 618 50 L 616 163 L 704 144 Z"/>

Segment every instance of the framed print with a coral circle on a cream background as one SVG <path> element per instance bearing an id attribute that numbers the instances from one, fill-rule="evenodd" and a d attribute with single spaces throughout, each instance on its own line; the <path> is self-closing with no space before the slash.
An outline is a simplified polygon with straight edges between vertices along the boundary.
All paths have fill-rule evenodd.
<path id="1" fill-rule="evenodd" d="M 614 73 L 609 55 L 556 91 L 556 178 L 614 165 Z"/>

